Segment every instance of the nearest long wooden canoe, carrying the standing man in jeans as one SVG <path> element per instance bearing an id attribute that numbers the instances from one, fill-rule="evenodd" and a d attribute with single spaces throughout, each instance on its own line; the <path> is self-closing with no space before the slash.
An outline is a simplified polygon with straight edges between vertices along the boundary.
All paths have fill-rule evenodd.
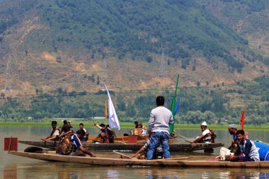
<path id="1" fill-rule="evenodd" d="M 138 160 L 127 158 L 88 157 L 88 156 L 61 156 L 51 153 L 35 154 L 21 151 L 9 151 L 9 154 L 35 158 L 43 161 L 60 161 L 68 163 L 84 163 L 94 166 L 174 166 L 174 167 L 211 167 L 211 168 L 269 168 L 269 161 L 259 162 L 230 162 L 215 161 L 207 158 L 195 159 L 189 157 L 177 157 L 159 160 Z M 186 159 L 188 158 L 188 159 Z"/>

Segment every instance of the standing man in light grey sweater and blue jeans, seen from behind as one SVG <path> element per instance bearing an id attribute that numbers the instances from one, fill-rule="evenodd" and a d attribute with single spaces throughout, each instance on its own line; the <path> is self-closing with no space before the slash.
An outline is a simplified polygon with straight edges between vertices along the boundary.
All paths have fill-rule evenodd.
<path id="1" fill-rule="evenodd" d="M 151 132 L 149 141 L 149 150 L 147 152 L 147 160 L 154 157 L 154 152 L 161 143 L 164 158 L 170 158 L 169 151 L 169 125 L 173 124 L 173 115 L 171 110 L 164 107 L 164 96 L 156 98 L 157 108 L 151 110 L 149 117 L 148 130 Z"/>

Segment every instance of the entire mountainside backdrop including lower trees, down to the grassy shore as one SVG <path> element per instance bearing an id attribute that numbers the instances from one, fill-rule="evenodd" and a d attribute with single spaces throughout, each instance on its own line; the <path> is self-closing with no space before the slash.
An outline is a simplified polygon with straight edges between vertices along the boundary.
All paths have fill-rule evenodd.
<path id="1" fill-rule="evenodd" d="M 171 103 L 180 74 L 182 122 L 235 120 L 242 108 L 268 120 L 268 1 L 0 5 L 0 88 L 10 64 L 13 90 L 1 119 L 103 115 L 104 84 L 125 120 L 146 119 L 156 94 Z"/>

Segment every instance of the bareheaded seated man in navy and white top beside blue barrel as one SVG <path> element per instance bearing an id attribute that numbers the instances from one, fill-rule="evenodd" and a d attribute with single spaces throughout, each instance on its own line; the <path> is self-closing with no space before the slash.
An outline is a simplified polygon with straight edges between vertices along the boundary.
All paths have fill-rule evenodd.
<path id="1" fill-rule="evenodd" d="M 236 132 L 239 144 L 239 150 L 234 155 L 230 155 L 231 161 L 260 161 L 258 154 L 258 148 L 255 144 L 246 138 L 244 130 L 238 130 Z"/>

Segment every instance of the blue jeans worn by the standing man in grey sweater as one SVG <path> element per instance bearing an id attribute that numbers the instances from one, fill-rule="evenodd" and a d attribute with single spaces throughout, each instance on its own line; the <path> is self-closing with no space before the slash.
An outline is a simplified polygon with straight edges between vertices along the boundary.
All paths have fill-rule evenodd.
<path id="1" fill-rule="evenodd" d="M 149 150 L 147 151 L 147 160 L 151 160 L 153 158 L 154 152 L 159 145 L 159 142 L 161 142 L 161 147 L 164 152 L 164 158 L 170 158 L 168 132 L 151 132 Z"/>

